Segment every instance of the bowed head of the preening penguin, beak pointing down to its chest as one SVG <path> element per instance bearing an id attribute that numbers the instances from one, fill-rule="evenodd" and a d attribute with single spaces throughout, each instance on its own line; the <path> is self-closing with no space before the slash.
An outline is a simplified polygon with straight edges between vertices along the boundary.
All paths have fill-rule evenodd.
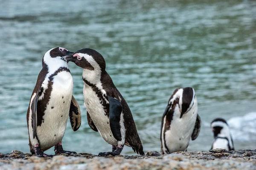
<path id="1" fill-rule="evenodd" d="M 172 109 L 174 105 L 178 104 L 180 118 L 192 107 L 197 107 L 197 98 L 195 96 L 195 90 L 192 87 L 185 87 L 185 88 L 177 88 L 173 92 L 171 98 L 169 99 L 169 106 Z"/>

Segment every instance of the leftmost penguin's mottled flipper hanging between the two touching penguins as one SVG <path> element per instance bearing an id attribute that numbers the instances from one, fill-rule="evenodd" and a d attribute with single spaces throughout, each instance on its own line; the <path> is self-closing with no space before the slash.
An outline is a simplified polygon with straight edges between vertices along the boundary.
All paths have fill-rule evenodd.
<path id="1" fill-rule="evenodd" d="M 80 111 L 79 104 L 77 103 L 73 95 L 72 95 L 71 104 L 70 104 L 69 117 L 70 117 L 70 124 L 73 131 L 78 130 L 81 125 L 81 111 Z"/>

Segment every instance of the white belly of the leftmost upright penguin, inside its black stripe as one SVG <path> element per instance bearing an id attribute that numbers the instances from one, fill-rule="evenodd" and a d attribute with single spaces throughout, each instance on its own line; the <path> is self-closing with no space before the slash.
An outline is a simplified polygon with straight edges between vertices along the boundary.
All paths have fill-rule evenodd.
<path id="1" fill-rule="evenodd" d="M 37 127 L 37 137 L 42 150 L 62 141 L 69 117 L 73 93 L 73 78 L 69 72 L 54 76 L 49 104 L 44 112 L 43 122 Z M 34 146 L 35 140 L 31 140 Z M 33 142 L 34 141 L 34 142 Z"/>

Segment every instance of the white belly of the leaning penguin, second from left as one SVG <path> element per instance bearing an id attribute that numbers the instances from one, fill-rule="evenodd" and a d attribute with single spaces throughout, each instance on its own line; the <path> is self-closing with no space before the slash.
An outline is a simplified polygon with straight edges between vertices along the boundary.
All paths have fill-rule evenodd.
<path id="1" fill-rule="evenodd" d="M 84 105 L 102 138 L 111 145 L 117 145 L 117 140 L 110 129 L 109 118 L 104 115 L 98 96 L 87 84 L 84 84 Z"/>

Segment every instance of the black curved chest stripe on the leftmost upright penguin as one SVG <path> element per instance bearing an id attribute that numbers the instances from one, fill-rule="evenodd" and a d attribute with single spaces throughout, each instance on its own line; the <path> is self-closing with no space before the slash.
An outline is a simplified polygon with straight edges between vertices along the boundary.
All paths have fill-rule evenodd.
<path id="1" fill-rule="evenodd" d="M 56 70 L 52 75 L 49 76 L 49 81 L 47 84 L 47 89 L 44 91 L 44 88 L 41 87 L 39 97 L 44 92 L 44 98 L 42 100 L 38 100 L 37 105 L 37 126 L 41 126 L 42 123 L 44 123 L 44 112 L 47 108 L 47 105 L 49 104 L 51 93 L 52 93 L 52 85 L 53 85 L 53 79 L 54 76 L 57 75 L 60 72 L 70 72 L 70 70 L 67 67 L 60 67 L 58 70 Z"/>

